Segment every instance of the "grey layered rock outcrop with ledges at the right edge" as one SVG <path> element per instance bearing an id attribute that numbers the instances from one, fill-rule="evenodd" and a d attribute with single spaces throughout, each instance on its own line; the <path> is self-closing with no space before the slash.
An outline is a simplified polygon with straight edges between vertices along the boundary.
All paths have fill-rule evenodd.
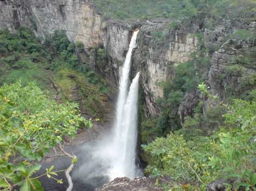
<path id="1" fill-rule="evenodd" d="M 220 45 L 220 49 L 213 54 L 211 59 L 208 83 L 210 92 L 219 96 L 224 102 L 229 96 L 240 96 L 246 90 L 245 81 L 249 80 L 246 78 L 256 73 L 253 65 L 241 64 L 237 60 L 239 57 L 245 59 L 243 58 L 244 51 L 249 52 L 249 49 L 255 46 L 255 42 L 249 41 L 248 37 L 240 40 L 234 36 L 227 38 L 240 29 L 256 32 L 255 22 L 231 20 L 223 22 L 213 31 L 205 30 L 204 32 L 206 45 Z"/>

